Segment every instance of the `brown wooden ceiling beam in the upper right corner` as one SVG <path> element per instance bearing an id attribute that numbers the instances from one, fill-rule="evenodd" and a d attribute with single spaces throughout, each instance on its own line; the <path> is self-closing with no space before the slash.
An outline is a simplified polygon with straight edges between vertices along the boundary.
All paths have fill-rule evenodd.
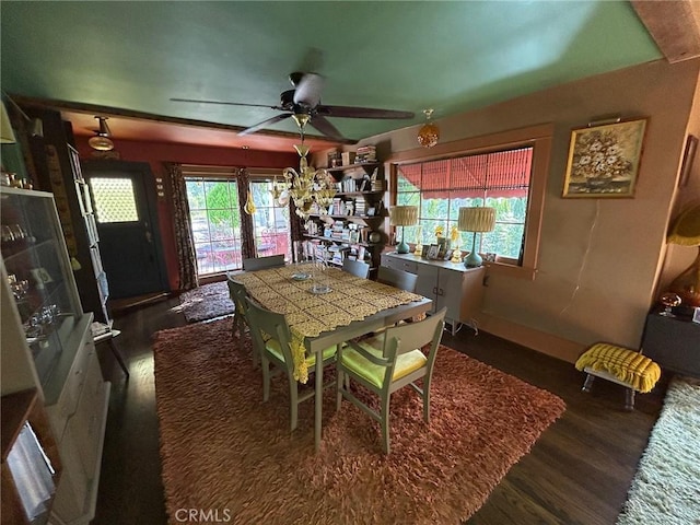
<path id="1" fill-rule="evenodd" d="M 631 0 L 631 4 L 666 60 L 700 57 L 700 2 Z"/>

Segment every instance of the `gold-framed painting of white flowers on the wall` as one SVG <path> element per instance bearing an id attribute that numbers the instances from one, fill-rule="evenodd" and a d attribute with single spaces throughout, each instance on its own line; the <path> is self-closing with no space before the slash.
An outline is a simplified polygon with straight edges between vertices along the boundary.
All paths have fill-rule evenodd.
<path id="1" fill-rule="evenodd" d="M 646 118 L 571 131 L 563 197 L 633 197 Z"/>

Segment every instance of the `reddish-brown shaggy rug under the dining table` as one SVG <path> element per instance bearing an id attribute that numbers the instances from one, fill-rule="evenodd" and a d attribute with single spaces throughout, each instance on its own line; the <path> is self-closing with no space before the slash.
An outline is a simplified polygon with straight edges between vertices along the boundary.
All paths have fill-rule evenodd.
<path id="1" fill-rule="evenodd" d="M 173 524 L 182 509 L 237 524 L 458 524 L 565 408 L 557 396 L 443 346 L 430 425 L 411 388 L 393 395 L 386 456 L 378 423 L 348 401 L 337 412 L 327 389 L 315 453 L 314 402 L 300 406 L 290 433 L 285 378 L 272 380 L 262 402 L 249 340 L 233 338 L 228 319 L 159 331 L 153 350 Z"/>

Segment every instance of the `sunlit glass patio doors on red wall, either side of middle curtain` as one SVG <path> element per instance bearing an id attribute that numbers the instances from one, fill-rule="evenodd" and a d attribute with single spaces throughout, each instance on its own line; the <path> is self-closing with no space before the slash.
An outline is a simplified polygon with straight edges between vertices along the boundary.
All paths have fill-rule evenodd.
<path id="1" fill-rule="evenodd" d="M 187 201 L 197 257 L 198 276 L 209 276 L 243 267 L 242 228 L 235 170 L 213 166 L 183 166 Z M 249 173 L 249 189 L 256 211 L 253 232 L 256 256 L 283 254 L 291 260 L 289 207 L 275 207 L 272 177 L 264 172 Z"/>

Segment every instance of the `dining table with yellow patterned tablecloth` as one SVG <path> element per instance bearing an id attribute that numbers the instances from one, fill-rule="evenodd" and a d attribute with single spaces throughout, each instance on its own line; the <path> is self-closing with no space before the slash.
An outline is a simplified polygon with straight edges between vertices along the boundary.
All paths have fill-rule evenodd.
<path id="1" fill-rule="evenodd" d="M 306 355 L 315 353 L 314 444 L 320 448 L 324 349 L 401 319 L 420 318 L 432 300 L 388 284 L 363 279 L 325 265 L 294 264 L 230 276 L 260 305 L 283 314 L 292 334 L 294 378 L 308 382 Z"/>

